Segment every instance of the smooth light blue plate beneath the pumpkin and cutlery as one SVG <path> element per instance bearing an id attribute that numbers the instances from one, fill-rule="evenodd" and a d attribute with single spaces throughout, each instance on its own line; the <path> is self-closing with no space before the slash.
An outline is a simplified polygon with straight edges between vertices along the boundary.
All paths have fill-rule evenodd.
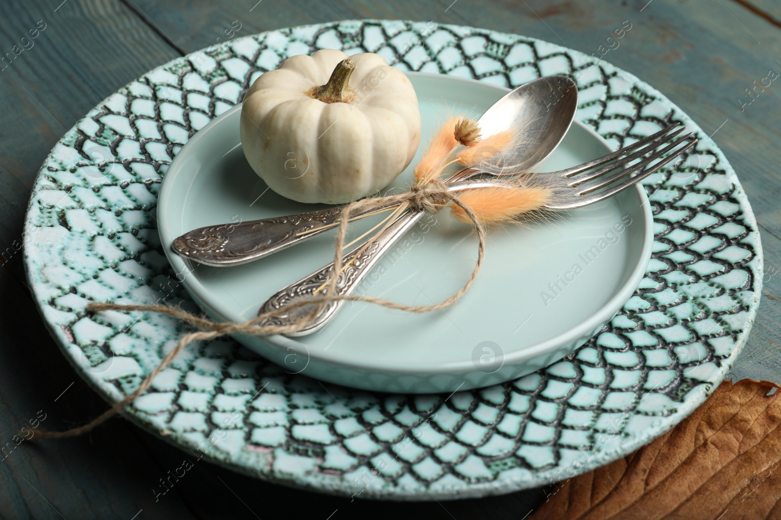
<path id="1" fill-rule="evenodd" d="M 478 118 L 508 92 L 451 76 L 409 77 L 419 98 L 423 143 L 446 114 Z M 174 271 L 209 316 L 233 322 L 255 317 L 284 285 L 333 260 L 333 233 L 238 267 L 203 266 L 173 252 L 173 239 L 194 228 L 315 209 L 276 195 L 255 175 L 241 148 L 239 115 L 237 105 L 184 145 L 158 203 L 162 249 Z M 391 189 L 408 189 L 424 148 Z M 609 151 L 576 122 L 544 169 L 568 168 Z M 568 355 L 615 316 L 651 258 L 652 218 L 642 186 L 558 217 L 493 229 L 476 284 L 443 312 L 421 315 L 355 302 L 298 341 L 238 339 L 289 371 L 373 391 L 452 392 L 526 375 Z M 357 223 L 353 235 L 380 218 Z M 431 215 L 388 253 L 359 292 L 410 305 L 440 301 L 469 278 L 475 260 L 471 229 L 446 212 Z"/>

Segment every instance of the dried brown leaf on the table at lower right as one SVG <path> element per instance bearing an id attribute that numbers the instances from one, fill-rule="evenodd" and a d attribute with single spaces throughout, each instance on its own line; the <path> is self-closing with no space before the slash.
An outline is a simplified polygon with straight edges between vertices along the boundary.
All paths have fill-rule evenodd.
<path id="1" fill-rule="evenodd" d="M 724 381 L 651 444 L 557 483 L 529 520 L 781 518 L 781 400 L 767 395 L 772 387 Z"/>

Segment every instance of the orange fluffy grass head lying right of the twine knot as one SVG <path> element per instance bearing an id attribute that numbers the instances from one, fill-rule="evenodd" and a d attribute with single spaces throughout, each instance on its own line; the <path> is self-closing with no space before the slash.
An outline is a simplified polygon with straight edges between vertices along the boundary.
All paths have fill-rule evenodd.
<path id="1" fill-rule="evenodd" d="M 458 199 L 469 206 L 485 225 L 519 222 L 533 217 L 553 200 L 553 189 L 546 186 L 516 186 L 515 188 L 468 189 L 458 193 Z M 462 207 L 451 204 L 451 212 L 460 221 L 469 222 Z"/>

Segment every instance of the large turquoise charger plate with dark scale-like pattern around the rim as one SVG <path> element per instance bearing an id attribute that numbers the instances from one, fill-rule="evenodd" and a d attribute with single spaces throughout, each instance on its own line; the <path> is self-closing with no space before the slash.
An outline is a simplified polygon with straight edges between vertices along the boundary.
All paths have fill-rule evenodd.
<path id="1" fill-rule="evenodd" d="M 451 395 L 355 391 L 286 372 L 231 339 L 188 345 L 125 412 L 205 458 L 276 483 L 362 498 L 481 497 L 542 486 L 646 444 L 700 405 L 744 345 L 761 245 L 735 172 L 694 122 L 636 77 L 578 51 L 471 27 L 344 21 L 269 31 L 152 70 L 70 129 L 37 176 L 25 266 L 45 324 L 108 401 L 133 391 L 188 329 L 89 301 L 197 310 L 159 245 L 162 176 L 187 140 L 284 58 L 339 48 L 404 70 L 505 87 L 551 74 L 580 89 L 576 118 L 615 147 L 671 121 L 696 152 L 644 186 L 648 272 L 612 322 L 519 380 Z"/>

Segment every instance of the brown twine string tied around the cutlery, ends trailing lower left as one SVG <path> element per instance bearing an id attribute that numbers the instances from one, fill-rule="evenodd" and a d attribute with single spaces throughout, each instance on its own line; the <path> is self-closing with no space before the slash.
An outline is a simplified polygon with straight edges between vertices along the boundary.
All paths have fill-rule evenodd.
<path id="1" fill-rule="evenodd" d="M 477 260 L 475 262 L 475 267 L 473 268 L 472 274 L 470 274 L 469 279 L 465 282 L 465 284 L 462 285 L 458 291 L 454 292 L 447 299 L 432 305 L 410 306 L 406 305 L 405 303 L 392 302 L 391 300 L 378 298 L 376 296 L 337 294 L 338 278 L 343 265 L 342 249 L 344 247 L 344 239 L 347 235 L 347 227 L 351 218 L 351 214 L 366 208 L 369 205 L 392 202 L 407 204 L 408 207 L 412 207 L 417 210 L 424 210 L 431 214 L 436 214 L 437 211 L 448 205 L 448 203 L 454 203 L 458 205 L 458 207 L 461 207 L 462 210 L 464 210 L 464 213 L 469 217 L 469 220 L 472 221 L 478 239 Z M 392 221 L 390 221 L 387 225 L 390 225 L 391 223 Z M 257 317 L 254 317 L 251 320 L 247 320 L 241 324 L 219 323 L 210 320 L 209 318 L 201 317 L 193 313 L 188 313 L 187 311 L 169 305 L 137 305 L 102 302 L 90 302 L 87 304 L 87 312 L 90 313 L 106 310 L 115 310 L 120 312 L 139 311 L 162 313 L 176 318 L 177 320 L 184 321 L 185 323 L 201 330 L 184 334 L 184 336 L 182 336 L 182 338 L 180 338 L 180 340 L 177 342 L 176 347 L 171 349 L 171 351 L 168 352 L 165 357 L 163 357 L 159 365 L 156 366 L 154 370 L 152 370 L 152 373 L 150 373 L 146 378 L 144 378 L 143 381 L 141 381 L 141 384 L 135 391 L 128 394 L 120 401 L 117 401 L 114 405 L 112 405 L 111 408 L 103 412 L 101 415 L 95 417 L 95 419 L 92 419 L 89 423 L 60 432 L 37 431 L 36 437 L 41 439 L 76 437 L 77 435 L 87 433 L 95 429 L 96 426 L 105 423 L 105 421 L 111 419 L 113 416 L 116 416 L 117 413 L 121 412 L 127 405 L 130 405 L 130 403 L 133 402 L 139 395 L 147 391 L 149 387 L 152 386 L 152 381 L 155 379 L 155 376 L 157 376 L 161 370 L 164 370 L 166 366 L 169 366 L 173 359 L 176 358 L 180 352 L 182 352 L 184 347 L 189 345 L 192 341 L 208 341 L 228 334 L 248 334 L 252 336 L 290 334 L 292 332 L 301 331 L 303 328 L 305 328 L 331 302 L 343 300 L 352 302 L 368 302 L 390 309 L 405 310 L 410 313 L 428 313 L 432 310 L 444 309 L 445 307 L 453 305 L 455 302 L 461 299 L 461 297 L 467 291 L 469 291 L 469 288 L 472 286 L 478 272 L 480 271 L 480 267 L 483 266 L 486 235 L 484 225 L 480 222 L 480 219 L 477 218 L 476 214 L 469 206 L 462 203 L 462 201 L 458 199 L 458 196 L 448 190 L 448 186 L 444 182 L 436 178 L 426 179 L 424 182 L 415 182 L 410 187 L 410 190 L 405 193 L 356 200 L 353 203 L 349 203 L 344 207 L 344 210 L 342 210 L 341 221 L 338 229 L 339 231 L 337 233 L 333 255 L 333 270 L 331 272 L 330 281 L 327 284 L 326 291 L 319 295 L 308 296 L 306 298 L 296 299 L 292 302 L 288 302 L 286 305 L 278 309 L 260 313 Z M 374 235 L 371 239 L 369 239 L 369 241 L 366 242 L 366 245 L 358 251 L 358 254 L 361 253 L 363 249 L 366 249 L 366 247 L 368 247 L 374 240 L 376 240 L 376 237 L 380 235 L 383 230 L 384 228 L 381 229 L 380 232 L 377 232 L 376 235 Z M 264 321 L 269 320 L 269 318 L 279 317 L 280 315 L 290 313 L 291 310 L 299 309 L 305 306 L 311 306 L 311 310 L 306 313 L 301 313 L 301 316 L 298 317 L 298 319 L 293 320 L 291 323 L 282 325 L 262 324 Z"/>

